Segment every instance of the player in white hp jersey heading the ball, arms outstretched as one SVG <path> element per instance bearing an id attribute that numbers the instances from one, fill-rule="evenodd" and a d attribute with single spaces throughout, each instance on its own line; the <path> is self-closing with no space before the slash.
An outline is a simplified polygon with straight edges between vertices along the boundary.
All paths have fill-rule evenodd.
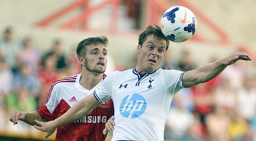
<path id="1" fill-rule="evenodd" d="M 207 82 L 240 59 L 251 60 L 249 55 L 239 52 L 191 71 L 163 70 L 159 65 L 168 46 L 169 41 L 160 27 L 149 25 L 139 35 L 135 68 L 113 72 L 94 95 L 81 100 L 54 121 L 36 121 L 39 126 L 34 127 L 46 131 L 47 137 L 55 127 L 84 117 L 101 102 L 113 99 L 115 129 L 112 140 L 164 140 L 164 125 L 176 92 Z"/>

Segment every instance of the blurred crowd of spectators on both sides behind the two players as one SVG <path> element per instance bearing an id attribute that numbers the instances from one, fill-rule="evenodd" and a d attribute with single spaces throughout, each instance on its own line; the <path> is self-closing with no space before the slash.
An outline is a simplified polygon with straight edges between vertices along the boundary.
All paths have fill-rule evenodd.
<path id="1" fill-rule="evenodd" d="M 53 39 L 46 52 L 39 52 L 32 36 L 15 40 L 13 28 L 3 29 L 0 39 L 0 134 L 32 134 L 34 127 L 12 125 L 12 110 L 33 111 L 44 104 L 51 84 L 80 73 L 76 47 L 65 54 L 61 39 Z M 160 67 L 189 71 L 198 67 L 185 51 L 179 61 L 168 55 Z M 136 57 L 122 69 L 134 67 Z M 216 59 L 212 59 L 215 61 Z M 171 104 L 164 138 L 187 141 L 249 141 L 256 136 L 256 76 L 250 66 L 237 62 L 207 83 L 185 88 Z M 122 70 L 117 66 L 116 70 Z"/>

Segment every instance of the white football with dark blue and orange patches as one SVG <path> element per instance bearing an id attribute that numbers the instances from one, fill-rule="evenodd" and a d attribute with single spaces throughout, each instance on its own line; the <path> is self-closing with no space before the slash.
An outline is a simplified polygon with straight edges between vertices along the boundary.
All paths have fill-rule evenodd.
<path id="1" fill-rule="evenodd" d="M 160 27 L 170 41 L 187 41 L 196 31 L 196 16 L 187 7 L 174 6 L 164 12 Z"/>

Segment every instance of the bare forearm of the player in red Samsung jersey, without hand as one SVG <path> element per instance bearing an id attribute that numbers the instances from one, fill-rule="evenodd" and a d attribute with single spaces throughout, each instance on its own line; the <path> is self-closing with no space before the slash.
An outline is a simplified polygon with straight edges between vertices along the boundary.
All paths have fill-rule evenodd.
<path id="1" fill-rule="evenodd" d="M 35 125 L 35 119 L 38 121 L 46 121 L 40 114 L 36 111 L 33 112 L 22 112 L 25 118 L 22 120 L 23 122 L 28 123 L 29 125 Z"/>

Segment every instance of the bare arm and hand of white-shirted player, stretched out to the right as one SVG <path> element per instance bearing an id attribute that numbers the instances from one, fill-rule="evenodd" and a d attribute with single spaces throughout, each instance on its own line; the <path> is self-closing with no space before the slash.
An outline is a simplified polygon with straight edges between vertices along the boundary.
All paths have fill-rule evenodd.
<path id="1" fill-rule="evenodd" d="M 251 61 L 251 58 L 244 52 L 238 52 L 213 63 L 200 66 L 195 70 L 187 71 L 183 75 L 183 86 L 191 87 L 199 83 L 208 82 L 220 74 L 227 66 L 232 65 L 238 60 Z"/>

